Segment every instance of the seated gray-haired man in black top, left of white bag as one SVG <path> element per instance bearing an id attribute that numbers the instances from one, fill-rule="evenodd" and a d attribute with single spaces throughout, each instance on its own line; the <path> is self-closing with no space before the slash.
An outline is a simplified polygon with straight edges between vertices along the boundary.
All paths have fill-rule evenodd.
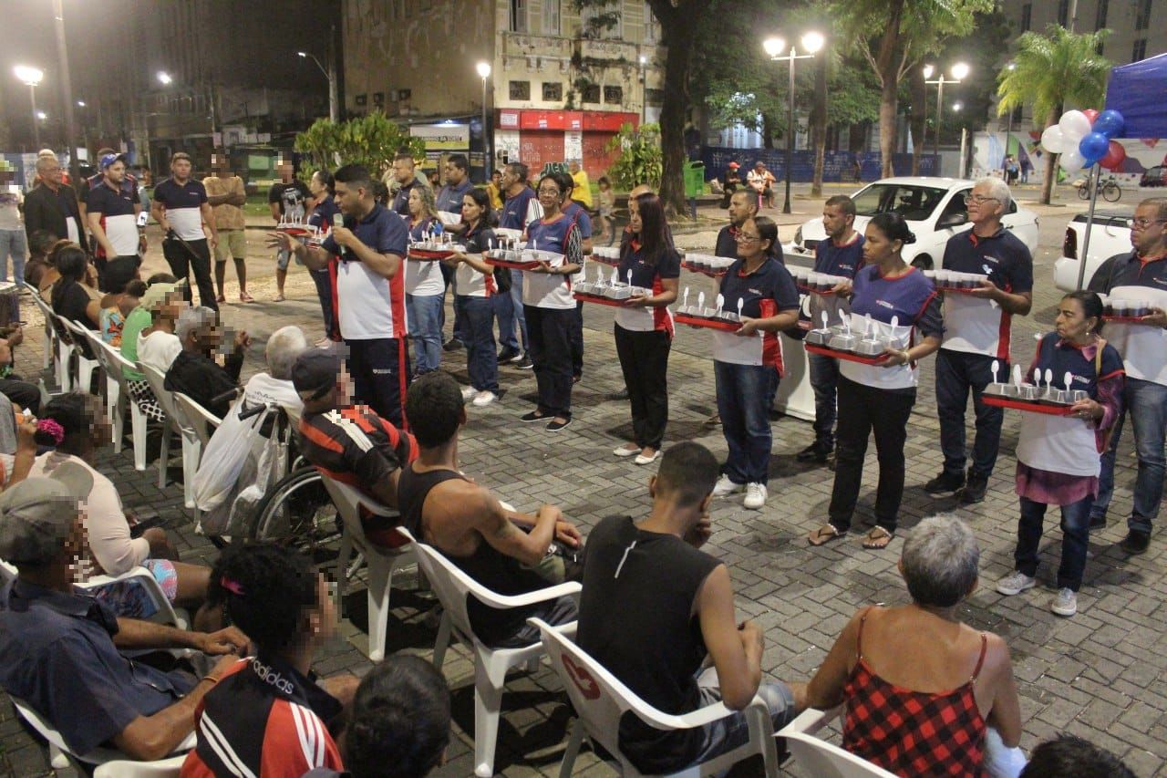
<path id="1" fill-rule="evenodd" d="M 181 391 L 215 416 L 223 418 L 231 409 L 232 389 L 238 388 L 243 354 L 251 345 L 246 331 L 235 333 L 233 348 L 223 366 L 215 361 L 228 331 L 218 320 L 218 313 L 198 306 L 179 314 L 175 328 L 182 353 L 170 364 L 163 384 L 170 391 Z"/>

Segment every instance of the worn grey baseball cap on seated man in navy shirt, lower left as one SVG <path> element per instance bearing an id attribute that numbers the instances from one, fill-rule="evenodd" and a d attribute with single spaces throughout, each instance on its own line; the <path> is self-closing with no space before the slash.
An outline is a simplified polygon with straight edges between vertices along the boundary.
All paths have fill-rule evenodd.
<path id="1" fill-rule="evenodd" d="M 51 478 L 26 478 L 0 494 L 0 558 L 18 565 L 51 562 L 92 488 L 89 471 L 67 461 Z"/>

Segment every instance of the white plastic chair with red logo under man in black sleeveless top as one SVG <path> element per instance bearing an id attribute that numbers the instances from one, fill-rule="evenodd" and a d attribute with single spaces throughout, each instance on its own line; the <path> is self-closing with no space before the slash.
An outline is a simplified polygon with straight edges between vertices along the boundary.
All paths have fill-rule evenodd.
<path id="1" fill-rule="evenodd" d="M 620 717 L 631 710 L 641 721 L 662 730 L 694 729 L 705 727 L 719 718 L 733 715 L 735 711 L 717 702 L 683 716 L 665 714 L 641 700 L 631 689 L 624 686 L 600 662 L 585 653 L 567 635 L 562 627 L 553 627 L 541 619 L 527 619 L 543 635 L 543 645 L 551 659 L 551 667 L 559 675 L 567 690 L 567 697 L 579 720 L 572 729 L 572 737 L 559 765 L 559 778 L 572 774 L 575 757 L 579 756 L 584 737 L 599 743 L 608 753 L 615 757 L 616 764 L 610 764 L 622 776 L 641 776 L 642 773 L 620 751 Z M 650 651 L 650 648 L 645 648 Z M 742 759 L 760 753 L 767 776 L 778 774 L 778 753 L 774 742 L 774 725 L 766 701 L 760 696 L 742 711 L 749 724 L 749 742 L 717 756 L 708 762 L 672 773 L 675 776 L 715 776 L 727 771 Z M 811 774 L 818 776 L 812 772 Z"/>

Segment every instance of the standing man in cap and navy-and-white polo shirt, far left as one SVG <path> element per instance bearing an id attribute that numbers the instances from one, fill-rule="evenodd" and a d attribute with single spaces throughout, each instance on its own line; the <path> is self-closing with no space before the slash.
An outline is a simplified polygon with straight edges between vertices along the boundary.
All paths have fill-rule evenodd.
<path id="1" fill-rule="evenodd" d="M 103 292 L 121 292 L 113 289 L 114 279 L 128 280 L 141 264 L 138 211 L 138 194 L 126 189 L 125 154 L 106 154 L 102 158 L 102 181 L 91 185 L 86 197 L 86 218 L 93 234 L 97 264 L 97 285 Z M 125 282 L 123 282 L 125 286 Z"/>

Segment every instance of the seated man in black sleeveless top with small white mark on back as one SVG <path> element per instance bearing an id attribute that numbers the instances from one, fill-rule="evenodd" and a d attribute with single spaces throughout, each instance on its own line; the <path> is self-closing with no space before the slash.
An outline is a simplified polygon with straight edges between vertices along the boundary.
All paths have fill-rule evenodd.
<path id="1" fill-rule="evenodd" d="M 609 516 L 588 539 L 576 642 L 645 702 L 673 715 L 721 701 L 741 710 L 761 695 L 774 729 L 806 707 L 805 683 L 762 682 L 762 630 L 740 626 L 729 571 L 699 550 L 710 537 L 718 460 L 705 446 L 664 452 L 649 481 L 652 513 Z M 619 603 L 619 607 L 613 604 Z M 712 660 L 712 665 L 706 659 Z M 704 728 L 662 731 L 633 713 L 620 748 L 637 770 L 678 772 L 749 739 L 745 714 Z"/>

